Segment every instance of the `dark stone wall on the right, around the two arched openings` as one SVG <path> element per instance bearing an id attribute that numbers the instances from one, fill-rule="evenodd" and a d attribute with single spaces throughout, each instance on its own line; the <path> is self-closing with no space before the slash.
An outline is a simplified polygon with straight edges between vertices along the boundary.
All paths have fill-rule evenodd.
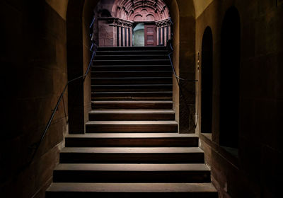
<path id="1" fill-rule="evenodd" d="M 277 4 L 276 4 L 277 2 Z M 240 130 L 238 155 L 219 146 L 219 65 L 221 25 L 236 6 L 241 18 Z M 282 176 L 282 33 L 281 1 L 214 0 L 196 21 L 196 51 L 204 29 L 212 28 L 214 94 L 212 140 L 200 135 L 220 197 L 279 197 Z M 237 153 L 237 151 L 236 151 Z M 280 176 L 281 175 L 281 176 Z M 271 182 L 272 181 L 272 182 Z M 245 186 L 243 188 L 243 186 Z"/>

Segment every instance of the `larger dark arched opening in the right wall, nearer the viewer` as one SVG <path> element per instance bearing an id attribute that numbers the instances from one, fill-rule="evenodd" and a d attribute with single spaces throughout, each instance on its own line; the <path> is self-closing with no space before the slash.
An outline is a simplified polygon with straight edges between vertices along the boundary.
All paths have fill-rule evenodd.
<path id="1" fill-rule="evenodd" d="M 240 16 L 235 7 L 226 11 L 221 28 L 220 136 L 221 146 L 238 148 Z"/>

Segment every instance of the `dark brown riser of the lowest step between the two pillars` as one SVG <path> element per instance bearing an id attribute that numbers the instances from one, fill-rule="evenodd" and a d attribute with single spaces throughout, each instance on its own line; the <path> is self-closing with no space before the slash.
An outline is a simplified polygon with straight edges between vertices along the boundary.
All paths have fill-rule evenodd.
<path id="1" fill-rule="evenodd" d="M 178 132 L 178 125 L 157 125 L 152 124 L 86 124 L 86 133 L 109 133 L 109 132 L 134 132 L 134 133 L 143 133 L 143 132 L 162 132 L 162 133 L 171 133 Z"/>

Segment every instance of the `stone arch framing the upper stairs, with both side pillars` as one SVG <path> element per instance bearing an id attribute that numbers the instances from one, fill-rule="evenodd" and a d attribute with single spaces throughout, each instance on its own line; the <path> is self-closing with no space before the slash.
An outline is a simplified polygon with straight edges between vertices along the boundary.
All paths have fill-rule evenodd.
<path id="1" fill-rule="evenodd" d="M 91 23 L 93 9 L 99 0 L 69 0 L 67 8 L 67 62 L 68 78 L 82 75 L 90 59 L 88 25 Z M 117 0 L 115 0 L 117 1 Z M 193 1 L 164 0 L 171 11 L 173 24 L 173 63 L 178 75 L 195 78 L 195 6 Z M 116 7 L 115 7 L 116 6 Z M 125 7 L 124 7 L 125 8 Z M 115 16 L 122 8 L 115 4 L 111 14 Z M 132 13 L 132 11 L 129 11 Z M 190 26 L 190 28 L 187 28 Z M 69 133 L 84 133 L 84 123 L 91 110 L 90 76 L 86 83 L 78 82 L 69 86 Z M 173 82 L 173 102 L 179 132 L 195 132 L 195 84 L 184 83 L 187 95 L 180 96 L 177 82 Z M 78 92 L 79 90 L 79 92 Z M 190 93 L 190 96 L 188 94 Z M 74 99 L 78 98 L 78 99 Z M 184 99 L 186 98 L 186 100 Z M 184 102 L 184 100 L 186 102 Z M 185 104 L 187 103 L 187 104 Z M 189 108 L 187 108 L 187 107 Z M 189 122 L 187 118 L 189 117 Z"/>

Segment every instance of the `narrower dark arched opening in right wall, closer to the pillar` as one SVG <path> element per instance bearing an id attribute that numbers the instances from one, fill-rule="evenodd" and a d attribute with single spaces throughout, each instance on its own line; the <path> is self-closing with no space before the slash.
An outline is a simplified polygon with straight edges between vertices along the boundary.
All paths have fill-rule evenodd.
<path id="1" fill-rule="evenodd" d="M 212 30 L 207 27 L 202 37 L 202 133 L 212 132 L 213 43 Z"/>

